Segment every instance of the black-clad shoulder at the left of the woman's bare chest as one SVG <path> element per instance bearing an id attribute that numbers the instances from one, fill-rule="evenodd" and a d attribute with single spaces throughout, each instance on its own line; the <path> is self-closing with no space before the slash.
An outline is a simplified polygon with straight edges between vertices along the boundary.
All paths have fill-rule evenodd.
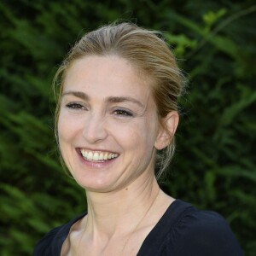
<path id="1" fill-rule="evenodd" d="M 80 218 L 83 218 L 85 213 L 73 218 L 67 224 L 63 224 L 50 230 L 40 241 L 38 241 L 33 251 L 33 256 L 54 256 L 61 254 L 61 247 L 63 242 L 66 240 L 69 230 L 72 225 L 77 222 Z"/>

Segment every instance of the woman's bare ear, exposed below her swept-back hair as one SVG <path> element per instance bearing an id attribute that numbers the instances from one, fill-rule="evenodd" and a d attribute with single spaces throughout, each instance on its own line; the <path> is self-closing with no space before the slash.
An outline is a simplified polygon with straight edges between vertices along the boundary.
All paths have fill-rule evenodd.
<path id="1" fill-rule="evenodd" d="M 171 142 L 175 134 L 178 124 L 178 113 L 172 111 L 161 120 L 158 135 L 156 137 L 154 148 L 160 150 L 166 148 Z"/>

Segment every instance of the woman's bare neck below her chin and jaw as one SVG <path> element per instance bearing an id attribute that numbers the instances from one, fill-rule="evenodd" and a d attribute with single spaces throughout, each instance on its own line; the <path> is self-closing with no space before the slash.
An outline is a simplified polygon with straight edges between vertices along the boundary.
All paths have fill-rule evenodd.
<path id="1" fill-rule="evenodd" d="M 95 236 L 110 239 L 114 234 L 131 230 L 131 219 L 137 223 L 159 192 L 154 174 L 143 183 L 138 178 L 125 189 L 109 193 L 87 191 L 87 228 Z M 86 228 L 86 229 L 87 229 Z"/>

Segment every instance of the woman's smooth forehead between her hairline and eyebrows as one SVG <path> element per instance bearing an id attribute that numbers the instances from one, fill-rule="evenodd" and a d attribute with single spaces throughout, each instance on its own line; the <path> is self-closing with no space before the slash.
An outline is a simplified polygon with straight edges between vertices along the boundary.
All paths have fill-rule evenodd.
<path id="1" fill-rule="evenodd" d="M 86 56 L 74 61 L 68 68 L 63 91 L 83 91 L 91 96 L 152 97 L 151 81 L 116 55 Z"/>

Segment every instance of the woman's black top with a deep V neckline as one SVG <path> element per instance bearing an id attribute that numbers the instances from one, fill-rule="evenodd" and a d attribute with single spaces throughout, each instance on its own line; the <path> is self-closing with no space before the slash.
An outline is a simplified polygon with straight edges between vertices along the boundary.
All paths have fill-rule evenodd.
<path id="1" fill-rule="evenodd" d="M 33 256 L 60 256 L 63 241 L 82 214 L 44 236 Z M 241 256 L 230 226 L 217 212 L 199 211 L 176 200 L 143 241 L 137 256 Z"/>

